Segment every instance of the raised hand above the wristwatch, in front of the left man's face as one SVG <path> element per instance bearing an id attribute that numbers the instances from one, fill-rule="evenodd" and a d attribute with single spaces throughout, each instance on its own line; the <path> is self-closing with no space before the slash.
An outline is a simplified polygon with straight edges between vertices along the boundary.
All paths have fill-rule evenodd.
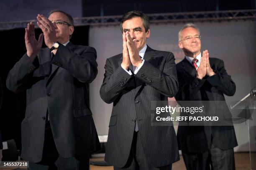
<path id="1" fill-rule="evenodd" d="M 37 15 L 37 25 L 44 33 L 44 42 L 48 48 L 52 47 L 52 44 L 57 41 L 54 24 L 44 15 Z"/>

